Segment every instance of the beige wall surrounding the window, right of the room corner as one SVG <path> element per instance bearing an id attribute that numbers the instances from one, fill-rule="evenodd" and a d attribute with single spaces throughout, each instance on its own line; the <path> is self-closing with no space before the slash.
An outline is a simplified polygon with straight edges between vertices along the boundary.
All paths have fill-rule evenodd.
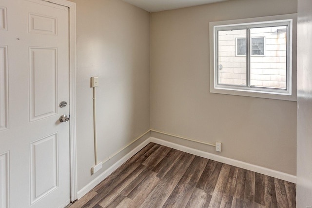
<path id="1" fill-rule="evenodd" d="M 296 0 L 229 0 L 152 13 L 151 127 L 223 151 L 152 135 L 295 175 L 296 102 L 210 93 L 209 21 L 296 12 Z"/>

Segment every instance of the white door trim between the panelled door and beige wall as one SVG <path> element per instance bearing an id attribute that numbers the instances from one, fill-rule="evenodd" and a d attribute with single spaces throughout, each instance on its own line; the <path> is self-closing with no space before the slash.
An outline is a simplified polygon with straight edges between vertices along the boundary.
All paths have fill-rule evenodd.
<path id="1" fill-rule="evenodd" d="M 76 3 L 68 0 L 44 0 L 68 7 L 69 10 L 69 151 L 70 199 L 77 198 L 77 148 L 76 148 Z"/>

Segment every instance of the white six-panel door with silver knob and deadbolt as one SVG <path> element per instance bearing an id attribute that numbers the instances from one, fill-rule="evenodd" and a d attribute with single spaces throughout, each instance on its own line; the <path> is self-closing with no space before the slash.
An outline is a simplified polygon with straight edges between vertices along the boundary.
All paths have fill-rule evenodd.
<path id="1" fill-rule="evenodd" d="M 67 7 L 0 0 L 0 208 L 70 203 L 68 50 Z"/>

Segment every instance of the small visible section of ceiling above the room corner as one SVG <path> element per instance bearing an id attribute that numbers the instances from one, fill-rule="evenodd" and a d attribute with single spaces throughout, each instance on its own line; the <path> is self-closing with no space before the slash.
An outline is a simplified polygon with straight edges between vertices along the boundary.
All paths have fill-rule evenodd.
<path id="1" fill-rule="evenodd" d="M 225 0 L 123 0 L 123 1 L 135 5 L 137 7 L 140 7 L 148 12 L 159 12 L 169 9 L 197 6 Z"/>

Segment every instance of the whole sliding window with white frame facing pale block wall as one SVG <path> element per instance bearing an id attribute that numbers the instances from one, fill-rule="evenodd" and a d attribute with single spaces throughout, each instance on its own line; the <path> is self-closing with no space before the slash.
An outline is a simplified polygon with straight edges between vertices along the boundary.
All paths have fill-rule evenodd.
<path id="1" fill-rule="evenodd" d="M 281 15 L 210 22 L 210 41 L 214 46 L 211 92 L 295 100 L 296 95 L 292 94 L 294 18 L 294 15 Z"/>

